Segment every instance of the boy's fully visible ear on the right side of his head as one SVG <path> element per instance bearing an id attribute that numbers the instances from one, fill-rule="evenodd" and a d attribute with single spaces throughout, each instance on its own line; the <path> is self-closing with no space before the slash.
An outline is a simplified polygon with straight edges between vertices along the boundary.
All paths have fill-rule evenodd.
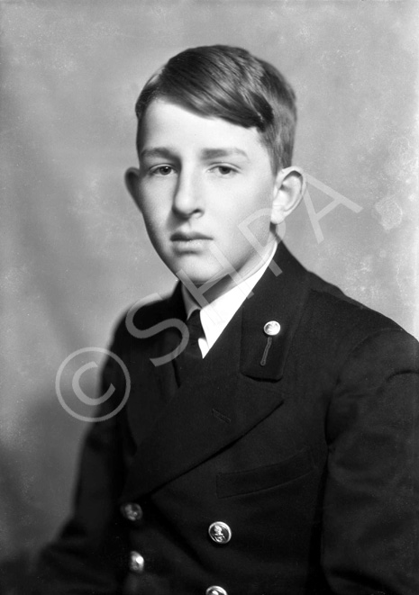
<path id="1" fill-rule="evenodd" d="M 278 171 L 270 221 L 278 225 L 296 209 L 305 193 L 305 176 L 301 167 L 284 167 Z"/>

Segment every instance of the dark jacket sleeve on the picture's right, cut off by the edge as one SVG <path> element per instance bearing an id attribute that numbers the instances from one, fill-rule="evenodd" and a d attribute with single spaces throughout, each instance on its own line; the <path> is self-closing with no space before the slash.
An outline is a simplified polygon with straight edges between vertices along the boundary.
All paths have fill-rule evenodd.
<path id="1" fill-rule="evenodd" d="M 323 570 L 336 595 L 419 593 L 417 342 L 378 331 L 351 350 L 327 419 Z"/>

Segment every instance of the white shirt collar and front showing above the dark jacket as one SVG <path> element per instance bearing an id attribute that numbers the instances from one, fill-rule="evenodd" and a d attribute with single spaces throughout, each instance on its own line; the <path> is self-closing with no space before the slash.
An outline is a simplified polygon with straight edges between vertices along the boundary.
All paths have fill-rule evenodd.
<path id="1" fill-rule="evenodd" d="M 275 242 L 269 259 L 260 266 L 256 273 L 253 273 L 253 275 L 250 275 L 250 277 L 241 281 L 240 284 L 234 285 L 232 289 L 217 297 L 213 302 L 205 303 L 205 306 L 201 309 L 201 323 L 205 332 L 205 337 L 199 338 L 198 340 L 198 345 L 203 357 L 205 357 L 211 347 L 213 347 L 217 338 L 222 334 L 223 329 L 225 329 L 230 320 L 232 320 L 236 311 L 239 310 L 241 304 L 251 293 L 251 290 L 258 283 L 261 276 L 265 273 L 277 248 L 278 245 L 277 242 Z M 185 303 L 188 319 L 194 310 L 199 309 L 199 306 L 187 291 L 185 285 L 182 285 L 182 297 Z M 203 297 L 205 298 L 205 294 Z"/>

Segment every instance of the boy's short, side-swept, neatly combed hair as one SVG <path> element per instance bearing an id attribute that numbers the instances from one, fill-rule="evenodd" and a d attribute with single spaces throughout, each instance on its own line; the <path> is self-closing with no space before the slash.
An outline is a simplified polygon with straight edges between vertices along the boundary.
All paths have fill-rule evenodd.
<path id="1" fill-rule="evenodd" d="M 205 117 L 244 128 L 255 126 L 272 169 L 291 165 L 296 130 L 296 95 L 277 68 L 246 50 L 214 45 L 190 48 L 150 77 L 135 105 L 137 147 L 142 117 L 164 98 Z"/>

